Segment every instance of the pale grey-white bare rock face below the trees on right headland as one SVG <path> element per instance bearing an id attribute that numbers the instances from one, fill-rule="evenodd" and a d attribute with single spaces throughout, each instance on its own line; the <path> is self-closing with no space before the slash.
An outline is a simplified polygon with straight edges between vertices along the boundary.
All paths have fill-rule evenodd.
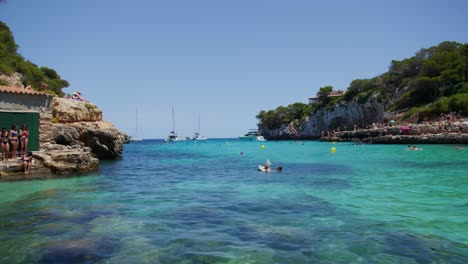
<path id="1" fill-rule="evenodd" d="M 311 139 L 332 130 L 352 130 L 367 124 L 381 122 L 385 117 L 385 105 L 375 97 L 360 104 L 353 100 L 347 104 L 338 103 L 329 110 L 318 110 L 297 127 L 293 123 L 282 125 L 279 129 L 266 129 L 260 126 L 260 132 L 267 139 Z"/>

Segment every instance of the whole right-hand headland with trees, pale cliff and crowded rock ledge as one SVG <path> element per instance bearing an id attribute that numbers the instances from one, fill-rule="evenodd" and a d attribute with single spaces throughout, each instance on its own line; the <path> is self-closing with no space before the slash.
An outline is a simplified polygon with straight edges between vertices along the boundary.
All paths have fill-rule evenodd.
<path id="1" fill-rule="evenodd" d="M 466 144 L 466 115 L 468 44 L 446 41 L 391 61 L 379 76 L 345 90 L 322 87 L 308 104 L 261 111 L 257 119 L 267 139 Z"/>

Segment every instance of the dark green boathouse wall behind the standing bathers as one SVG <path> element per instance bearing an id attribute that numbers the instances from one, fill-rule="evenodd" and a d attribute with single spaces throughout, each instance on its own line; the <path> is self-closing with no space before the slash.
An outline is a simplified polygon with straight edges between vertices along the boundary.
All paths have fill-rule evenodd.
<path id="1" fill-rule="evenodd" d="M 28 126 L 28 151 L 39 150 L 39 113 L 0 112 L 0 131 L 3 126 L 7 128 L 7 131 L 10 131 L 14 124 L 18 126 L 18 132 L 23 124 Z"/>

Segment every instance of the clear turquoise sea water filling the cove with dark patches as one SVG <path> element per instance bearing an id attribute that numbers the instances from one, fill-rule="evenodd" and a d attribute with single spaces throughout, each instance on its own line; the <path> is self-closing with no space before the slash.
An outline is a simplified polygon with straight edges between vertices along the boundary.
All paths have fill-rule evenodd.
<path id="1" fill-rule="evenodd" d="M 131 143 L 0 182 L 0 263 L 468 263 L 468 147 L 418 147 Z"/>

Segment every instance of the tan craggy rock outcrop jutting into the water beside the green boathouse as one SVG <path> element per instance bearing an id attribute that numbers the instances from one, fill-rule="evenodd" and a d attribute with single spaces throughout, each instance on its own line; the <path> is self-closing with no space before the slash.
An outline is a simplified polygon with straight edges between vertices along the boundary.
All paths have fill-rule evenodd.
<path id="1" fill-rule="evenodd" d="M 129 140 L 95 105 L 66 98 L 54 98 L 41 113 L 39 130 L 41 151 L 34 157 L 54 173 L 95 170 L 98 159 L 119 157 Z"/>

